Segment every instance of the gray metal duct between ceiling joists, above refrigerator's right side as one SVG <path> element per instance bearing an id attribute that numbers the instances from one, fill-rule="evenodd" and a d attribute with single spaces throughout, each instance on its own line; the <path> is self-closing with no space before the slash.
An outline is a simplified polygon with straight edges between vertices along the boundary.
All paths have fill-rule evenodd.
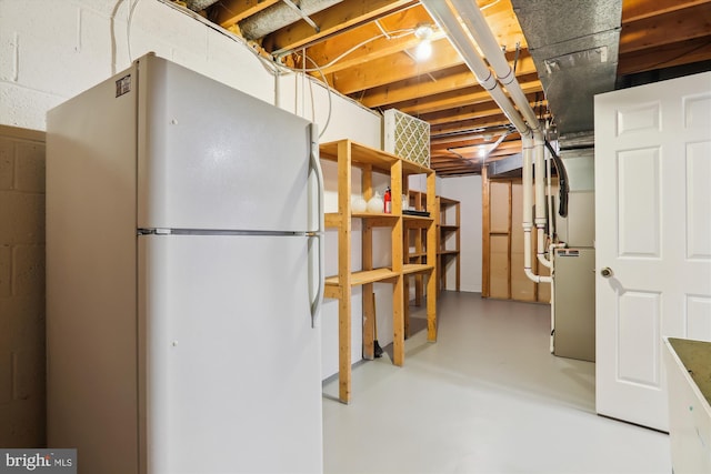
<path id="1" fill-rule="evenodd" d="M 247 40 L 256 40 L 273 33 L 288 24 L 296 23 L 301 20 L 303 16 L 318 13 L 341 1 L 342 0 L 294 0 L 293 3 L 299 8 L 301 13 L 286 2 L 280 2 L 240 21 L 240 31 Z"/>

